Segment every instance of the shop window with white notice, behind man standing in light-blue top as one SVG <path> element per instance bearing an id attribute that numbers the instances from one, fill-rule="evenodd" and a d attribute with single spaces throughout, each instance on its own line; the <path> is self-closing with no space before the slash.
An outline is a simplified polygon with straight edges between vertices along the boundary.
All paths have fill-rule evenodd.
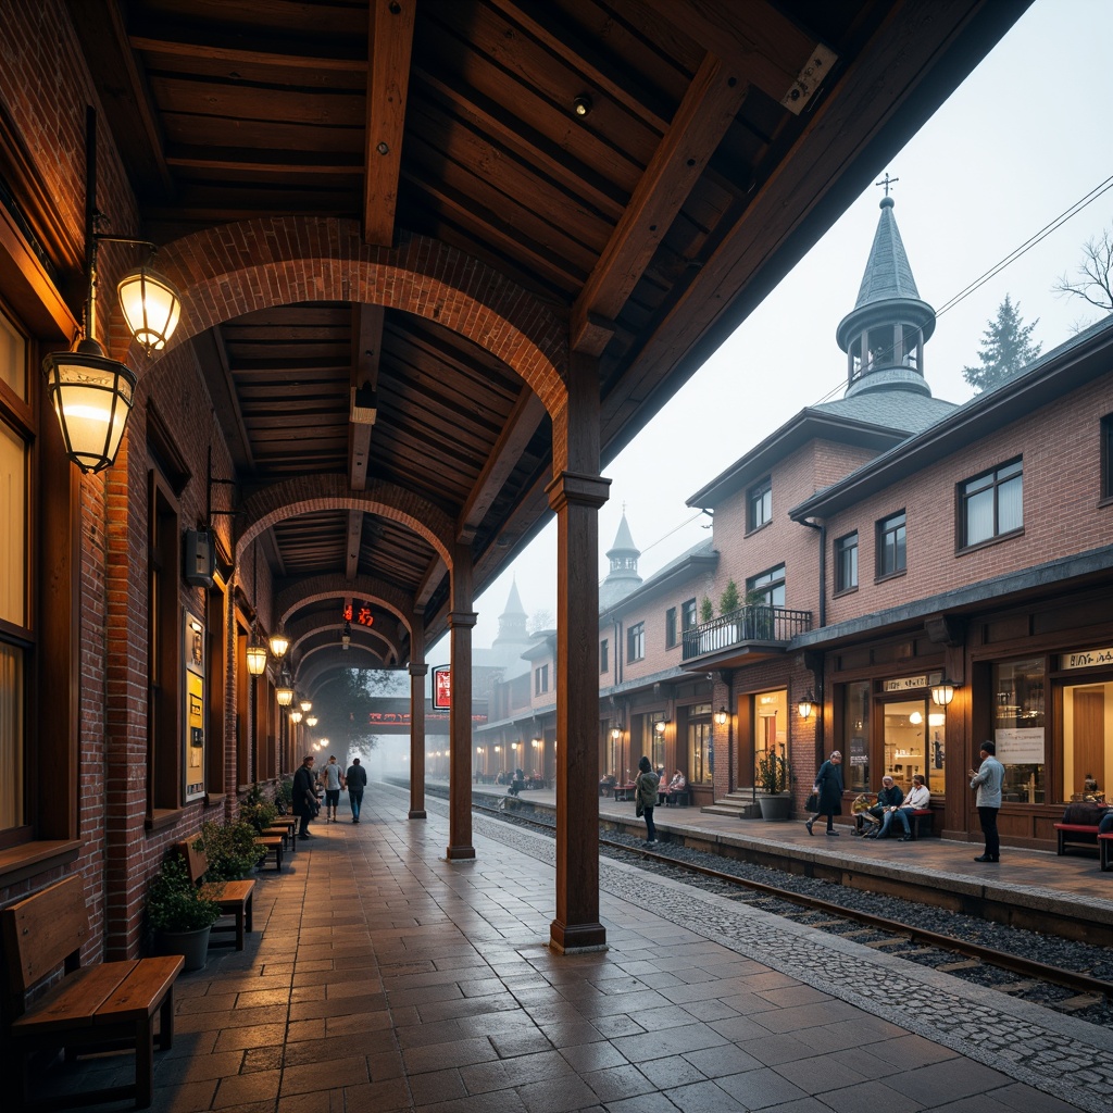
<path id="1" fill-rule="evenodd" d="M 994 742 L 1005 767 L 1005 801 L 1045 800 L 1044 659 L 993 667 Z M 1086 771 L 1086 770 L 1083 770 Z"/>

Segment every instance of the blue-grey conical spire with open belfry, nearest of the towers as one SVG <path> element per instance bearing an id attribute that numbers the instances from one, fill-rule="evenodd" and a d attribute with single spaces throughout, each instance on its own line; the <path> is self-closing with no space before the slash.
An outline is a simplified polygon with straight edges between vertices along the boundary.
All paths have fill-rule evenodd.
<path id="1" fill-rule="evenodd" d="M 887 194 L 881 198 L 858 301 L 835 334 L 849 359 L 847 397 L 875 391 L 932 395 L 924 344 L 935 332 L 935 309 L 916 288 L 894 205 Z"/>

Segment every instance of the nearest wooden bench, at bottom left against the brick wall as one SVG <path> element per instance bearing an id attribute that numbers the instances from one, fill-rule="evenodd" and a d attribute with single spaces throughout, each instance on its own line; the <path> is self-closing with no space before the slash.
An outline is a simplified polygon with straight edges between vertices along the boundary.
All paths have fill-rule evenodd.
<path id="1" fill-rule="evenodd" d="M 78 1048 L 116 1045 L 135 1048 L 135 1085 L 82 1094 L 82 1104 L 134 1096 L 137 1109 L 147 1109 L 155 1072 L 155 1014 L 158 1043 L 165 1050 L 174 1042 L 174 981 L 185 959 L 168 955 L 82 966 L 81 947 L 92 934 L 86 900 L 85 883 L 75 874 L 0 913 L 8 967 L 4 1016 L 19 1056 L 19 1093 L 26 1107 L 32 1052 L 65 1048 L 71 1058 Z M 65 966 L 61 981 L 28 1004 L 28 995 L 59 966 Z"/>

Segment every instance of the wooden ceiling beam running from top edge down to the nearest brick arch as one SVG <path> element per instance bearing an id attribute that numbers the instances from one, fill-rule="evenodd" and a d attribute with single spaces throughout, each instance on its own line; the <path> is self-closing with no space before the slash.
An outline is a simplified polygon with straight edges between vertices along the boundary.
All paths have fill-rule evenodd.
<path id="1" fill-rule="evenodd" d="M 394 244 L 416 6 L 417 0 L 371 0 L 368 13 L 363 237 L 381 247 Z"/>

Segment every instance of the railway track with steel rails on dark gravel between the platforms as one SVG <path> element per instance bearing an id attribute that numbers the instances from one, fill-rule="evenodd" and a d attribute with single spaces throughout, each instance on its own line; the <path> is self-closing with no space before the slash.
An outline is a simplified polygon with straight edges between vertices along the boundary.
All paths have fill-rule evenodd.
<path id="1" fill-rule="evenodd" d="M 473 810 L 550 836 L 554 831 L 552 823 L 535 817 L 474 802 Z M 829 881 L 802 879 L 792 874 L 785 874 L 782 883 L 770 880 L 768 876 L 760 879 L 746 876 L 752 870 L 740 863 L 725 863 L 722 865 L 733 867 L 725 869 L 722 865 L 710 864 L 717 860 L 712 855 L 686 850 L 680 857 L 677 851 L 670 851 L 668 843 L 653 849 L 640 845 L 640 840 L 612 838 L 603 831 L 600 833 L 599 845 L 601 853 L 608 856 L 639 859 L 658 870 L 677 870 L 687 879 L 698 879 L 705 888 L 726 892 L 732 898 L 743 899 L 766 912 L 831 934 L 854 937 L 867 946 L 884 947 L 910 961 L 1082 1020 L 1104 1025 L 1113 1022 L 1113 953 L 1109 948 L 1058 940 L 1063 954 L 1068 956 L 1067 965 L 1058 965 L 1023 953 L 1023 944 L 1031 942 L 1032 933 L 995 927 L 995 937 L 1003 944 L 1013 943 L 1016 946 L 988 946 L 971 938 L 968 933 L 964 937 L 962 933 L 948 934 L 913 923 L 914 919 L 923 919 L 924 908 L 899 897 L 877 896 L 879 902 L 895 909 L 893 914 L 883 914 L 854 907 L 863 897 L 868 899 L 870 894 L 860 889 L 844 890 Z M 759 873 L 776 875 L 775 870 L 765 868 Z M 824 896 L 807 892 L 817 886 L 831 892 Z M 955 919 L 965 923 L 969 917 Z M 1041 945 L 1047 947 L 1048 942 L 1042 939 Z"/>

